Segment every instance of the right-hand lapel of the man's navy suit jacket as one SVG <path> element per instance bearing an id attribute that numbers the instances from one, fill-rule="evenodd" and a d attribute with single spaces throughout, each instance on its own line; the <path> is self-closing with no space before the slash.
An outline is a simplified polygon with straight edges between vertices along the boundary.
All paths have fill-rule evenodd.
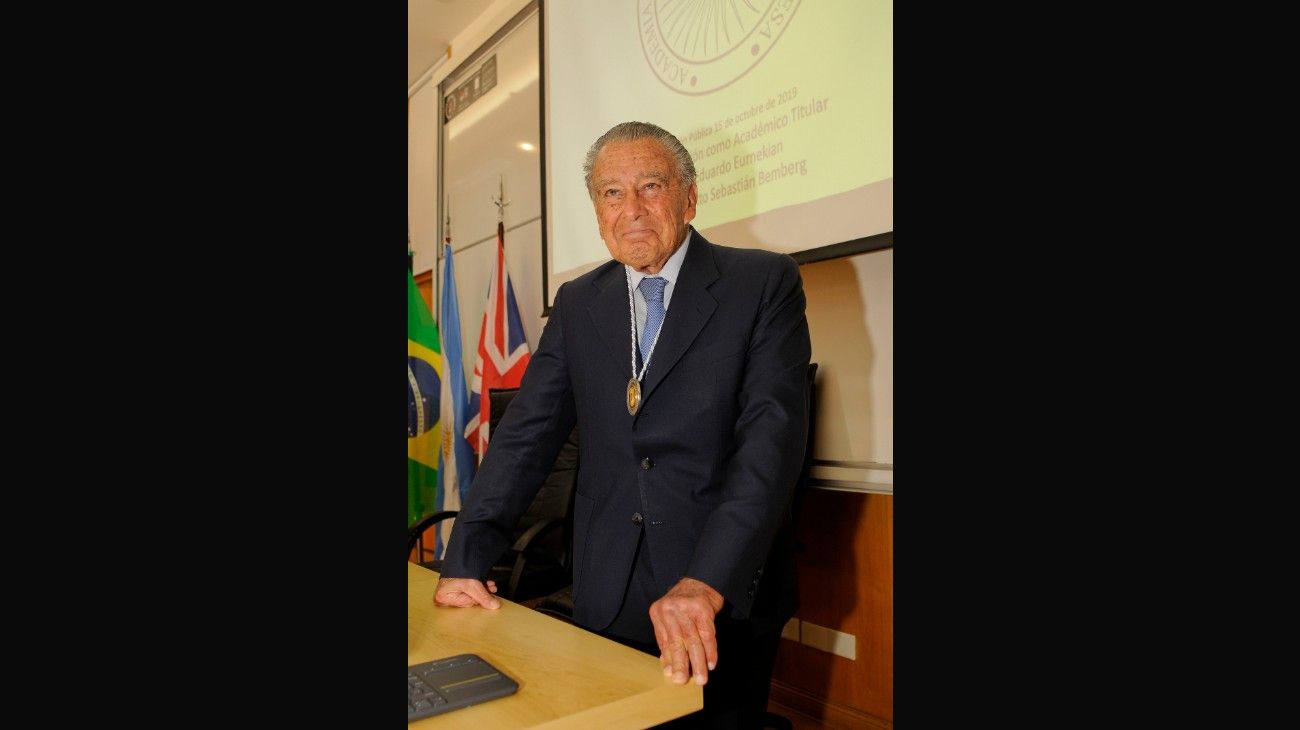
<path id="1" fill-rule="evenodd" d="M 681 262 L 679 281 L 672 290 L 672 303 L 663 318 L 659 343 L 650 356 L 650 370 L 642 382 L 644 399 L 654 394 L 718 308 L 718 300 L 708 294 L 708 286 L 718 279 L 712 244 L 696 231 L 692 231 L 692 235 L 694 238 L 686 249 L 686 260 Z M 623 312 L 627 317 L 627 304 Z M 627 329 L 625 321 L 624 329 Z"/>

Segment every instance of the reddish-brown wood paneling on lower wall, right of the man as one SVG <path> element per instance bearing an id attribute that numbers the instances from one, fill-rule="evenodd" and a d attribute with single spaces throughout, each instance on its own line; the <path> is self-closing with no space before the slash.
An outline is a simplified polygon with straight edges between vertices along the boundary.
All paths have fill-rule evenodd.
<path id="1" fill-rule="evenodd" d="M 783 639 L 774 699 L 836 726 L 893 727 L 893 496 L 809 490 L 798 542 L 796 617 L 857 636 L 857 659 Z"/>

